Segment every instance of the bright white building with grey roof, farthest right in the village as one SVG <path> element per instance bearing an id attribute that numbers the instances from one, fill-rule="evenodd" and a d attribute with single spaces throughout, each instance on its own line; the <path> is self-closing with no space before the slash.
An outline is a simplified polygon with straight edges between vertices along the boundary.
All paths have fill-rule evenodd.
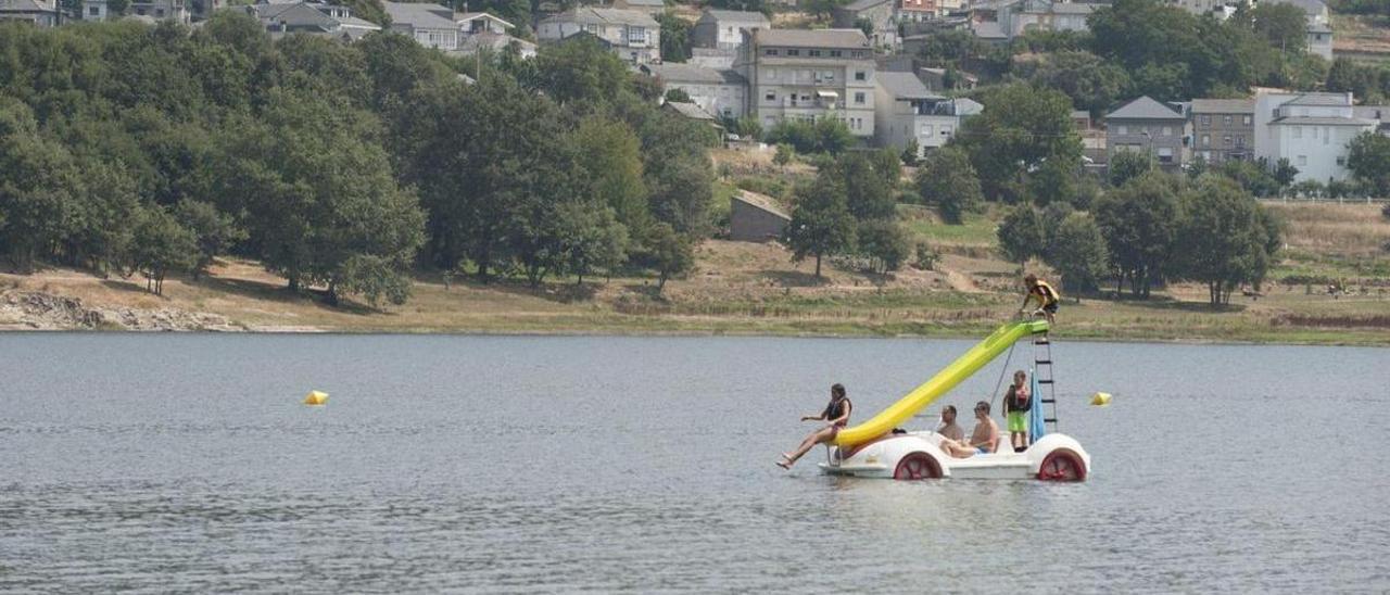
<path id="1" fill-rule="evenodd" d="M 1255 157 L 1298 168 L 1298 181 L 1347 179 L 1351 139 L 1380 122 L 1358 118 L 1351 93 L 1261 93 L 1255 99 Z"/>

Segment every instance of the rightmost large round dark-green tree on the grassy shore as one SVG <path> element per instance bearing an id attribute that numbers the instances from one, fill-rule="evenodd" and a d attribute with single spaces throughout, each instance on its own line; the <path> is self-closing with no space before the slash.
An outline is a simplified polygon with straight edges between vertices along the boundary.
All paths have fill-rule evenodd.
<path id="1" fill-rule="evenodd" d="M 1183 193 L 1175 272 L 1205 284 L 1212 306 L 1269 270 L 1270 229 L 1259 211 L 1255 197 L 1226 178 L 1207 177 Z"/>

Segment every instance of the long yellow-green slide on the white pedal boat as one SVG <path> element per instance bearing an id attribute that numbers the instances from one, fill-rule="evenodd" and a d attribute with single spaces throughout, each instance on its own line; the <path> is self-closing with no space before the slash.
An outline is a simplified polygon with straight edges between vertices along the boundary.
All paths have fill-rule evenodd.
<path id="1" fill-rule="evenodd" d="M 1047 332 L 1045 320 L 1009 323 L 999 327 L 994 334 L 981 341 L 980 345 L 970 348 L 969 352 L 965 352 L 963 356 L 952 361 L 951 366 L 947 366 L 945 370 L 937 373 L 937 375 L 931 377 L 922 386 L 912 389 L 908 396 L 898 399 L 888 409 L 873 416 L 872 420 L 852 428 L 841 430 L 835 435 L 835 445 L 855 446 L 888 434 L 892 428 L 902 425 L 903 421 L 917 414 L 923 407 L 951 392 L 958 384 L 974 375 L 984 364 L 999 357 L 999 353 L 1004 353 L 1019 339 L 1042 332 Z"/>

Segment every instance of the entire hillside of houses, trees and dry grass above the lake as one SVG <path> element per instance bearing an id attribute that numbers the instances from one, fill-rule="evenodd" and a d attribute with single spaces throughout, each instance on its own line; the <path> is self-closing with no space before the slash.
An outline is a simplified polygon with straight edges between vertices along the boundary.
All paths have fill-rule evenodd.
<path id="1" fill-rule="evenodd" d="M 870 332 L 933 332 L 997 316 L 1023 268 L 1054 275 L 1072 299 L 1147 303 L 1086 309 L 1087 332 L 1101 336 L 1156 332 L 1168 323 L 1143 317 L 1169 300 L 1208 302 L 1215 318 L 1175 327 L 1207 336 L 1223 324 L 1250 338 L 1265 325 L 1320 334 L 1333 320 L 1357 332 L 1390 324 L 1372 306 L 1384 298 L 1390 250 L 1379 207 L 1255 200 L 1390 195 L 1390 70 L 1340 56 L 1320 0 L 3 0 L 0 18 L 33 31 L 120 26 L 93 39 L 183 56 L 146 64 L 189 72 L 202 88 L 171 85 L 179 75 L 161 79 L 167 72 L 120 81 L 118 68 L 25 76 L 42 51 L 0 64 L 0 75 L 19 72 L 22 85 L 7 90 L 28 104 L 0 103 L 0 117 L 18 122 L 0 127 L 0 140 L 46 146 L 39 153 L 74 171 L 93 154 L 114 168 L 86 175 L 96 184 L 17 178 L 15 196 L 43 202 L 57 185 L 71 204 L 19 209 L 10 221 L 0 204 L 0 254 L 14 264 L 6 278 L 42 293 L 3 299 L 39 325 L 204 320 L 149 314 L 161 302 L 103 289 L 113 274 L 139 272 L 149 299 L 165 296 L 168 274 L 164 299 L 218 313 L 207 318 L 217 328 L 317 318 L 318 306 L 263 317 L 284 304 L 260 300 L 285 298 L 261 289 L 254 303 L 204 306 L 222 302 L 214 286 L 288 282 L 293 299 L 321 293 L 320 306 L 352 309 L 339 296 L 353 296 L 377 316 L 403 314 L 378 310 L 382 300 L 425 302 L 395 323 L 331 313 L 303 328 L 509 329 L 535 316 L 456 320 L 446 311 L 461 298 L 453 304 L 464 310 L 539 306 L 566 329 L 645 329 L 670 316 L 694 317 L 671 323 L 680 328 L 723 329 L 742 323 L 705 318 L 770 309 L 817 321 L 759 327 L 769 332 L 844 332 L 820 317 L 847 307 L 870 309 L 849 316 Z M 1129 43 L 1148 32 L 1155 39 Z M 74 64 L 92 56 L 64 43 L 56 51 Z M 229 51 L 231 67 L 200 71 L 210 64 L 200 51 Z M 113 64 L 120 54 L 97 53 Z M 72 92 L 100 107 L 72 108 Z M 188 93 L 211 107 L 193 108 Z M 86 118 L 111 118 L 122 132 L 88 132 L 96 124 Z M 361 167 L 342 149 L 359 145 L 373 154 L 370 181 L 342 186 L 331 172 Z M 58 167 L 24 163 L 39 153 L 14 152 L 11 171 Z M 334 164 L 306 171 L 300 158 Z M 279 179 L 240 188 L 261 170 Z M 272 199 L 299 200 L 286 188 L 304 186 L 314 200 Z M 126 190 L 138 204 L 124 202 Z M 83 200 L 133 229 L 103 229 Z M 314 210 L 335 200 L 377 215 L 334 229 L 356 225 L 320 220 Z M 286 218 L 325 229 L 286 238 Z M 324 241 L 339 243 L 314 246 Z M 1222 259 L 1201 263 L 1204 253 Z M 71 268 L 44 272 L 40 263 Z M 595 323 L 570 306 L 499 306 L 506 299 L 489 293 L 523 281 L 542 300 L 603 314 Z M 449 293 L 459 282 L 467 289 Z M 1158 302 L 1151 286 L 1163 292 Z M 1291 288 L 1304 298 L 1254 303 Z M 1232 310 L 1232 295 L 1254 310 L 1219 323 L 1244 307 Z M 1333 307 L 1319 296 L 1355 298 Z M 885 300 L 906 310 L 874 313 Z M 1116 318 L 1122 311 L 1138 317 Z M 1130 323 L 1137 329 L 1126 331 Z"/>

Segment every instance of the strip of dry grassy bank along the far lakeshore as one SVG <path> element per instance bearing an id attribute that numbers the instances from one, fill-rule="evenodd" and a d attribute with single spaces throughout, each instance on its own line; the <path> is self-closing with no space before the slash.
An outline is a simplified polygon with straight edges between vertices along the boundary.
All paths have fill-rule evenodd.
<path id="1" fill-rule="evenodd" d="M 1152 300 L 1068 296 L 1058 334 L 1070 338 L 1159 341 L 1255 341 L 1390 345 L 1390 259 L 1377 252 L 1390 224 L 1371 206 L 1275 206 L 1290 222 L 1284 260 L 1264 298 L 1237 296 L 1222 310 L 1202 288 L 1175 285 Z M 655 296 L 646 278 L 559 279 L 532 291 L 520 284 L 478 285 L 418 278 L 414 298 L 382 311 L 328 307 L 313 295 L 291 295 L 256 263 L 218 263 L 193 282 L 171 279 L 165 296 L 143 279 L 100 279 L 47 270 L 0 275 L 0 291 L 81 298 L 85 304 L 179 309 L 222 314 L 261 331 L 396 332 L 714 332 L 837 335 L 977 335 L 1017 307 L 1015 266 L 992 256 L 990 217 L 944 225 L 908 209 L 912 229 L 944 253 L 934 271 L 878 277 L 834 263 L 827 278 L 812 263 L 791 263 L 777 245 L 708 241 L 698 268 Z M 1030 270 L 1034 268 L 1030 266 Z M 1037 267 L 1044 271 L 1045 268 Z M 1350 295 L 1329 295 L 1336 278 Z M 8 289 L 6 289 L 8 288 Z M 3 324 L 4 321 L 0 321 Z"/>

